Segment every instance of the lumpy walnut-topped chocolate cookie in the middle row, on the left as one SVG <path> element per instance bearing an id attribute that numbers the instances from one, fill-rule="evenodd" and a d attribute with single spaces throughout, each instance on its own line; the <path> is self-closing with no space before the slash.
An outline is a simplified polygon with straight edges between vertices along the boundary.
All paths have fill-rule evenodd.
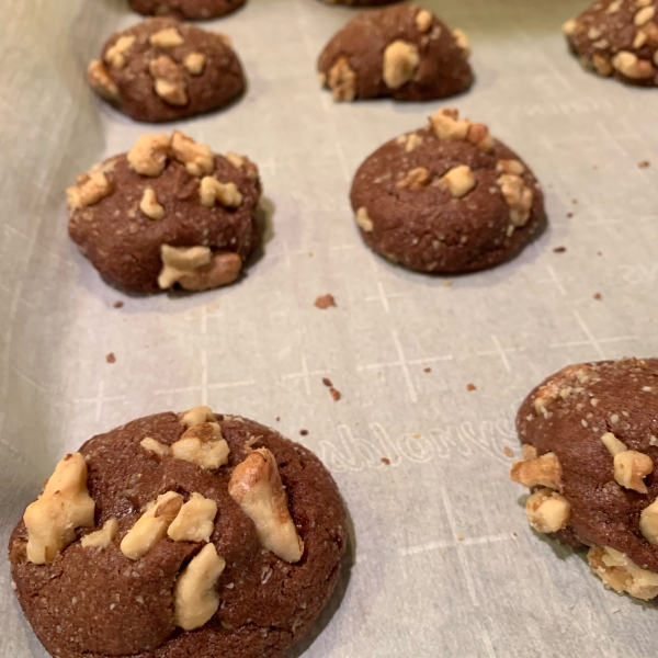
<path id="1" fill-rule="evenodd" d="M 260 240 L 258 168 L 174 131 L 143 135 L 67 190 L 69 235 L 106 279 L 135 292 L 236 281 Z"/>

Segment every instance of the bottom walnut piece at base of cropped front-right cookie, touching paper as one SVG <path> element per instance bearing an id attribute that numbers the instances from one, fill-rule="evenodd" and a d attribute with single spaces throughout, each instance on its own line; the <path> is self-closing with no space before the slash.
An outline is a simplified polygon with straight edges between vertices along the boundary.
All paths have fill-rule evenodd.
<path id="1" fill-rule="evenodd" d="M 592 546 L 587 559 L 594 574 L 616 592 L 650 601 L 658 595 L 658 574 L 639 568 L 624 553 L 610 546 Z"/>

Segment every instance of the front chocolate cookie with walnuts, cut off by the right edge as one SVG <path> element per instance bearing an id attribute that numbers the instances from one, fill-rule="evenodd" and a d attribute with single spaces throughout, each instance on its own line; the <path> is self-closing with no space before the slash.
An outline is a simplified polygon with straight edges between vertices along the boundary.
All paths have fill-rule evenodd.
<path id="1" fill-rule="evenodd" d="M 658 595 L 658 359 L 570 365 L 545 379 L 517 418 L 532 489 L 531 525 L 589 547 L 614 590 Z"/>

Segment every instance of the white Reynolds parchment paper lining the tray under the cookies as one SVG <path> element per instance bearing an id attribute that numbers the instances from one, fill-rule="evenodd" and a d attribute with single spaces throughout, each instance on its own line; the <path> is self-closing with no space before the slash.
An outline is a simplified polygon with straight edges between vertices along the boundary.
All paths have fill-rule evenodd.
<path id="1" fill-rule="evenodd" d="M 66 451 L 209 404 L 316 451 L 350 510 L 339 592 L 291 656 L 655 655 L 655 606 L 604 590 L 581 557 L 530 531 L 502 451 L 519 452 L 515 409 L 545 375 L 658 353 L 658 97 L 567 54 L 559 25 L 580 2 L 420 4 L 470 38 L 477 82 L 457 100 L 334 105 L 314 64 L 354 15 L 345 8 L 249 0 L 206 25 L 234 39 L 249 91 L 170 127 L 260 164 L 264 252 L 229 288 L 143 297 L 77 252 L 64 195 L 160 129 L 103 105 L 83 79 L 138 16 L 120 0 L 0 0 L 0 542 Z M 365 156 L 453 104 L 533 167 L 551 225 L 515 261 L 447 286 L 374 257 L 347 195 Z M 337 308 L 314 306 L 325 293 Z M 5 563 L 0 619 L 1 656 L 45 656 Z"/>

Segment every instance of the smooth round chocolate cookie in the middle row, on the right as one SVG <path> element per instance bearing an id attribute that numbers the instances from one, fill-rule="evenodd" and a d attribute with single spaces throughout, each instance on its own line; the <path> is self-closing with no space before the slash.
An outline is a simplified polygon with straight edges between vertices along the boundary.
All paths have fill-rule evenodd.
<path id="1" fill-rule="evenodd" d="M 351 201 L 368 247 L 420 272 L 497 265 L 545 222 L 532 171 L 456 110 L 378 148 L 356 171 Z"/>

